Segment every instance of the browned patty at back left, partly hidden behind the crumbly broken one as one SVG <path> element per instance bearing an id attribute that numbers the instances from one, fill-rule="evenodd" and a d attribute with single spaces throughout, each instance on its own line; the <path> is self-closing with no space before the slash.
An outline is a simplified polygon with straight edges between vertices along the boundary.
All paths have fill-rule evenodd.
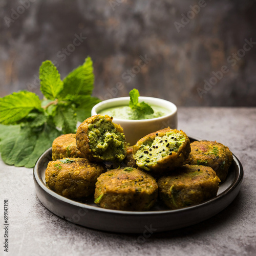
<path id="1" fill-rule="evenodd" d="M 76 147 L 76 134 L 63 134 L 53 141 L 52 160 L 55 161 L 64 157 L 83 157 L 83 154 Z"/>

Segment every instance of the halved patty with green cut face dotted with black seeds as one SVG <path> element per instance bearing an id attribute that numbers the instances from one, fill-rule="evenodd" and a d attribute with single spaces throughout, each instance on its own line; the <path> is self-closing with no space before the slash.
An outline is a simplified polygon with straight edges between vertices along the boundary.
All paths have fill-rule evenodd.
<path id="1" fill-rule="evenodd" d="M 190 153 L 190 141 L 183 131 L 169 127 L 148 134 L 133 146 L 136 164 L 144 170 L 169 172 L 181 166 Z"/>

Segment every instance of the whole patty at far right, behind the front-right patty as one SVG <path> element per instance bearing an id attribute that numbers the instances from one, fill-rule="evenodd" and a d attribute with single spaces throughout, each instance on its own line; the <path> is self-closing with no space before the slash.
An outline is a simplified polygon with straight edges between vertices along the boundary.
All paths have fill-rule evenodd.
<path id="1" fill-rule="evenodd" d="M 225 181 L 229 167 L 233 160 L 233 155 L 227 146 L 216 141 L 195 141 L 190 144 L 191 153 L 187 164 L 201 164 L 210 166 L 215 170 L 217 176 Z"/>

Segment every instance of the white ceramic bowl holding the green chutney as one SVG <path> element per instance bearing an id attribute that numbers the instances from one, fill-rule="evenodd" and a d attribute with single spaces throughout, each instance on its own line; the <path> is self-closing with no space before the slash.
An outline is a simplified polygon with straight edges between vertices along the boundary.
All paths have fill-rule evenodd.
<path id="1" fill-rule="evenodd" d="M 92 108 L 92 116 L 97 115 L 100 111 L 114 106 L 129 105 L 130 97 L 113 98 L 99 102 Z M 164 99 L 153 97 L 139 97 L 139 102 L 144 101 L 148 104 L 160 106 L 169 110 L 169 114 L 152 119 L 141 120 L 127 120 L 119 119 L 113 116 L 113 122 L 120 124 L 123 127 L 123 132 L 126 141 L 130 145 L 136 144 L 136 142 L 147 134 L 156 132 L 170 127 L 171 129 L 177 129 L 177 106 Z"/>

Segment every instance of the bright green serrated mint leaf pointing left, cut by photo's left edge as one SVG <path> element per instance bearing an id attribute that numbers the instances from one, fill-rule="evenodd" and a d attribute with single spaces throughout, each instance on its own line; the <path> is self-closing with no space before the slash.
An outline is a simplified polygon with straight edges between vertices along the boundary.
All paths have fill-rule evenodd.
<path id="1" fill-rule="evenodd" d="M 0 98 L 0 123 L 15 124 L 33 109 L 41 109 L 39 97 L 32 92 L 19 91 Z"/>

